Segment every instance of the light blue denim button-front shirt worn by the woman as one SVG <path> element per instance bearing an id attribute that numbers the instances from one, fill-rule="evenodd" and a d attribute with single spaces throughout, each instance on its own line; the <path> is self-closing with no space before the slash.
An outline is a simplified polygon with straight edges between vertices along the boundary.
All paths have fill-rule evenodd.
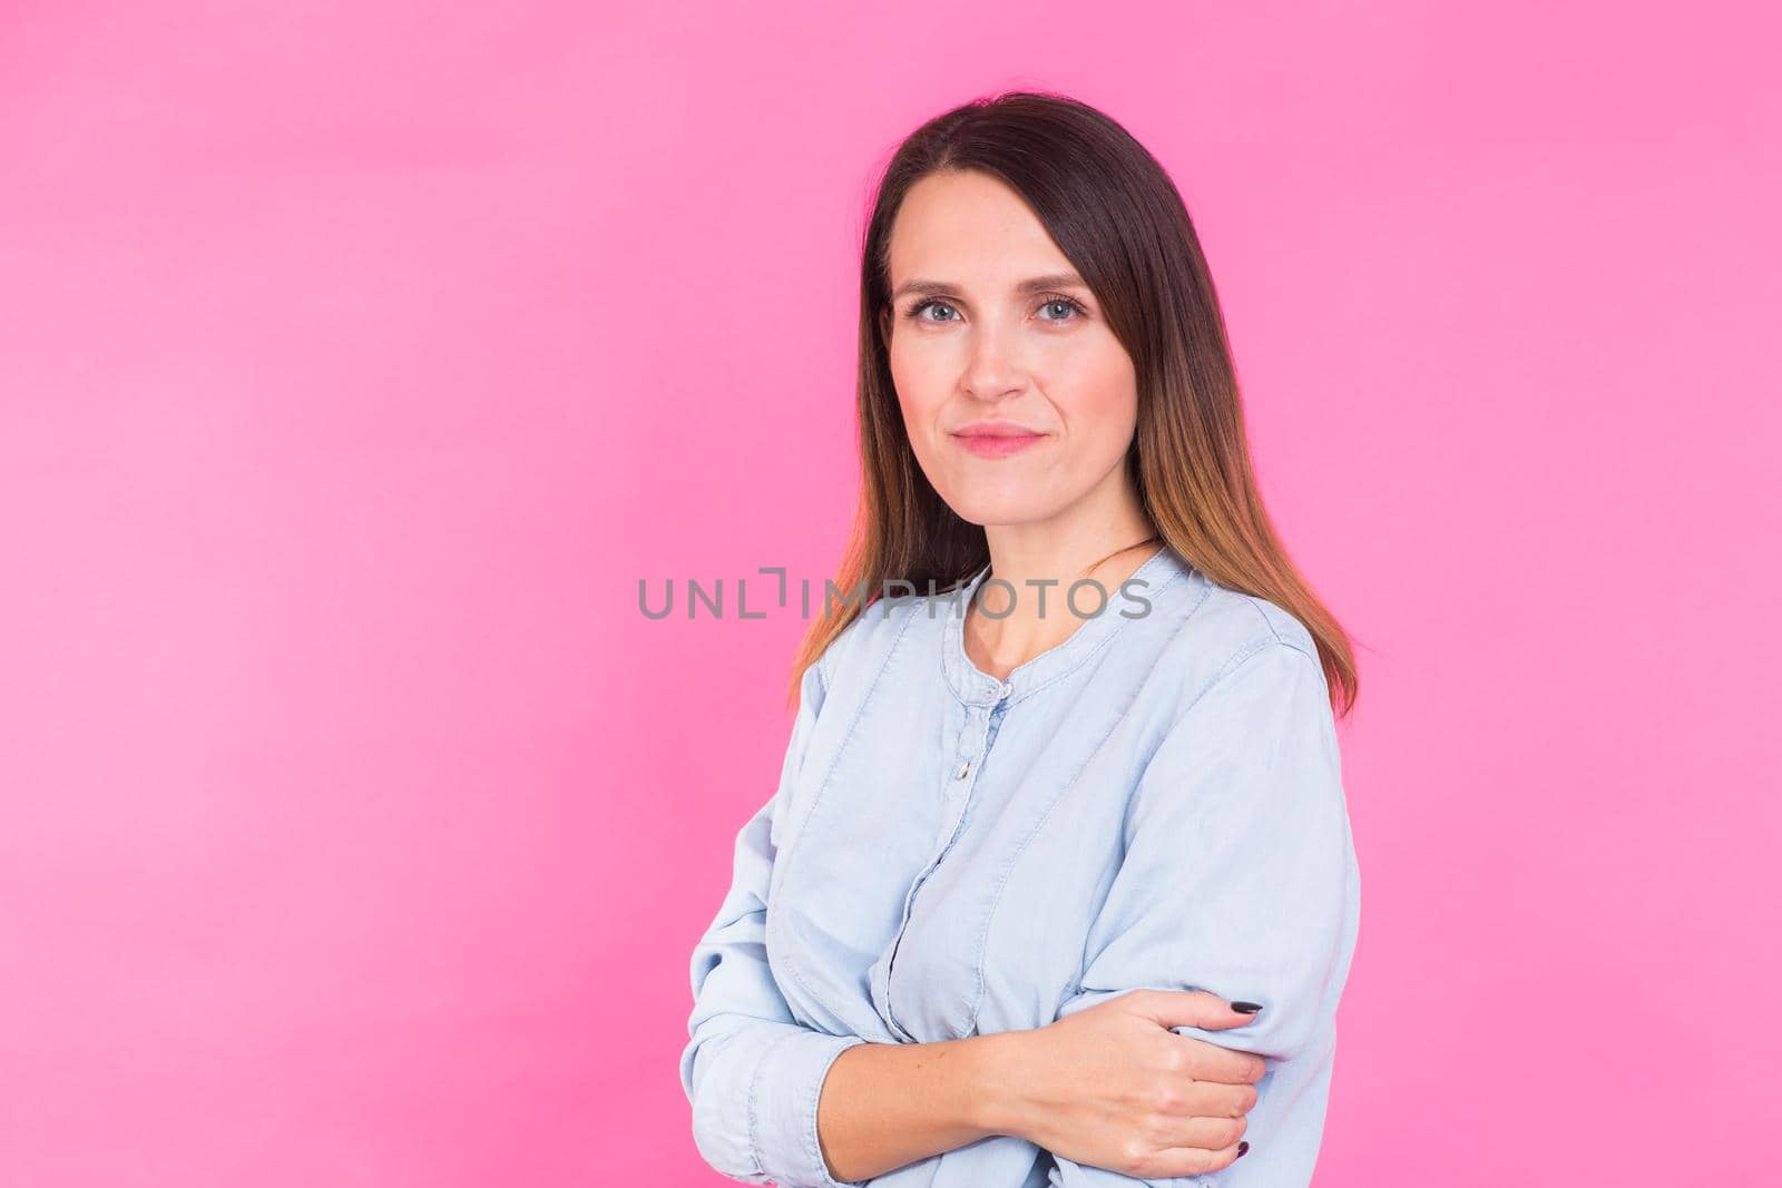
<path id="1" fill-rule="evenodd" d="M 1231 1167 L 1137 1181 L 996 1135 L 864 1183 L 1310 1183 L 1361 903 L 1310 632 L 1165 547 L 1101 614 L 1083 588 L 1075 634 L 996 680 L 962 632 L 985 572 L 868 606 L 804 677 L 779 787 L 693 949 L 681 1083 L 700 1154 L 743 1183 L 836 1188 L 816 1103 L 843 1049 L 1203 989 L 1263 1005 L 1174 1028 L 1265 1058 Z"/>

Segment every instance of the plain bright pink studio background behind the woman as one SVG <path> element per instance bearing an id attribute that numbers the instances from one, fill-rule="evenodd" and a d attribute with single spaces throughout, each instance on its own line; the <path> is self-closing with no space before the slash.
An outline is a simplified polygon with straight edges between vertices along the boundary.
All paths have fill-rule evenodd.
<path id="1" fill-rule="evenodd" d="M 1773 1176 L 1778 30 L 1329 7 L 7 5 L 0 1183 L 722 1183 L 804 622 L 638 579 L 830 572 L 873 169 L 1019 85 L 1176 176 L 1361 643 L 1319 1183 Z"/>

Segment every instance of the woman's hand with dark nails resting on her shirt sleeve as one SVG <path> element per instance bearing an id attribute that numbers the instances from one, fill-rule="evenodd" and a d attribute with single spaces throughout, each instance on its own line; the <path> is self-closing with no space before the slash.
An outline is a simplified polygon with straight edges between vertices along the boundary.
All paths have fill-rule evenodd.
<path id="1" fill-rule="evenodd" d="M 1000 1133 L 1137 1179 L 1203 1176 L 1238 1158 L 1262 1056 L 1169 1028 L 1255 1019 L 1205 990 L 1128 990 L 1019 1038 Z"/>

